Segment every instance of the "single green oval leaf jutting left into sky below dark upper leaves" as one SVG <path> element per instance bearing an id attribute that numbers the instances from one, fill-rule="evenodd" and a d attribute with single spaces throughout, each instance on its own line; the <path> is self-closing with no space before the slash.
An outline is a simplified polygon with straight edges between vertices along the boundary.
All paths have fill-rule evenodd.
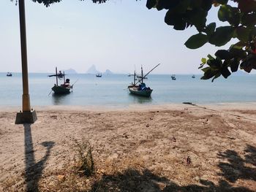
<path id="1" fill-rule="evenodd" d="M 208 37 L 205 34 L 195 34 L 185 42 L 186 47 L 189 49 L 197 49 L 202 47 L 208 42 Z"/>

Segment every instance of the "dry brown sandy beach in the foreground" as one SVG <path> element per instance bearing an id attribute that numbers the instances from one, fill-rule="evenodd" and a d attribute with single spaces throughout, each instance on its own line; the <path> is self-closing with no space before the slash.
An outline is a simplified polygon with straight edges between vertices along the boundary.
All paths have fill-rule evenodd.
<path id="1" fill-rule="evenodd" d="M 0 191 L 256 191 L 256 104 L 36 110 L 31 125 L 0 111 Z"/>

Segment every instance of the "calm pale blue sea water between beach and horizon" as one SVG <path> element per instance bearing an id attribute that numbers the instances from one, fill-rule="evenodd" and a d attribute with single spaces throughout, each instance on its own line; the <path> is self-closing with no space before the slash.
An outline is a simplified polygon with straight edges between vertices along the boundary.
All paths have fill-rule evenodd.
<path id="1" fill-rule="evenodd" d="M 151 98 L 133 96 L 127 90 L 132 77 L 127 74 L 102 75 L 69 74 L 71 84 L 75 83 L 72 93 L 55 96 L 50 93 L 55 83 L 48 74 L 29 74 L 29 94 L 31 106 L 49 105 L 105 105 L 127 106 L 129 104 L 171 104 L 184 101 L 196 104 L 222 102 L 255 102 L 256 75 L 231 76 L 227 80 L 219 78 L 200 80 L 200 75 L 178 75 L 171 80 L 170 75 L 148 75 L 146 85 L 154 91 Z M 7 77 L 0 73 L 0 106 L 20 106 L 22 99 L 21 74 L 13 73 Z M 48 94 L 50 95 L 48 96 Z"/>

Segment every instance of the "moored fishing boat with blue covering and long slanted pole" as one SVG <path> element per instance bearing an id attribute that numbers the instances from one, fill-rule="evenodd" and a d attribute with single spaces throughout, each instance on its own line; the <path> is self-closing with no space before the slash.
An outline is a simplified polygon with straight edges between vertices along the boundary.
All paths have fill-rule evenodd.
<path id="1" fill-rule="evenodd" d="M 159 66 L 159 64 L 157 65 Z M 146 84 L 143 80 L 146 79 L 146 76 L 152 72 L 157 66 L 155 66 L 151 71 L 149 71 L 146 75 L 143 75 L 143 68 L 141 66 L 141 75 L 137 75 L 136 72 L 134 74 L 130 74 L 129 76 L 133 76 L 133 82 L 128 86 L 129 93 L 132 93 L 137 96 L 145 96 L 150 97 L 153 89 L 146 87 Z M 138 78 L 138 82 L 136 82 L 136 77 Z"/>

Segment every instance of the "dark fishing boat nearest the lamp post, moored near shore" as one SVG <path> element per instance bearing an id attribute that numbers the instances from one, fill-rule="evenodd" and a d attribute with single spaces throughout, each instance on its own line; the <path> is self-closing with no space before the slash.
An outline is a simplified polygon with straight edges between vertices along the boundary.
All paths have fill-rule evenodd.
<path id="1" fill-rule="evenodd" d="M 48 77 L 56 77 L 56 84 L 54 84 L 53 88 L 51 88 L 51 90 L 55 93 L 55 94 L 67 94 L 70 93 L 70 90 L 73 88 L 73 85 L 69 84 L 69 79 L 65 79 L 65 76 L 67 74 L 65 74 L 64 72 L 57 71 L 57 67 L 56 67 L 56 74 L 50 74 L 48 75 Z M 58 84 L 58 79 L 61 80 L 63 79 L 63 84 L 59 85 Z"/>

